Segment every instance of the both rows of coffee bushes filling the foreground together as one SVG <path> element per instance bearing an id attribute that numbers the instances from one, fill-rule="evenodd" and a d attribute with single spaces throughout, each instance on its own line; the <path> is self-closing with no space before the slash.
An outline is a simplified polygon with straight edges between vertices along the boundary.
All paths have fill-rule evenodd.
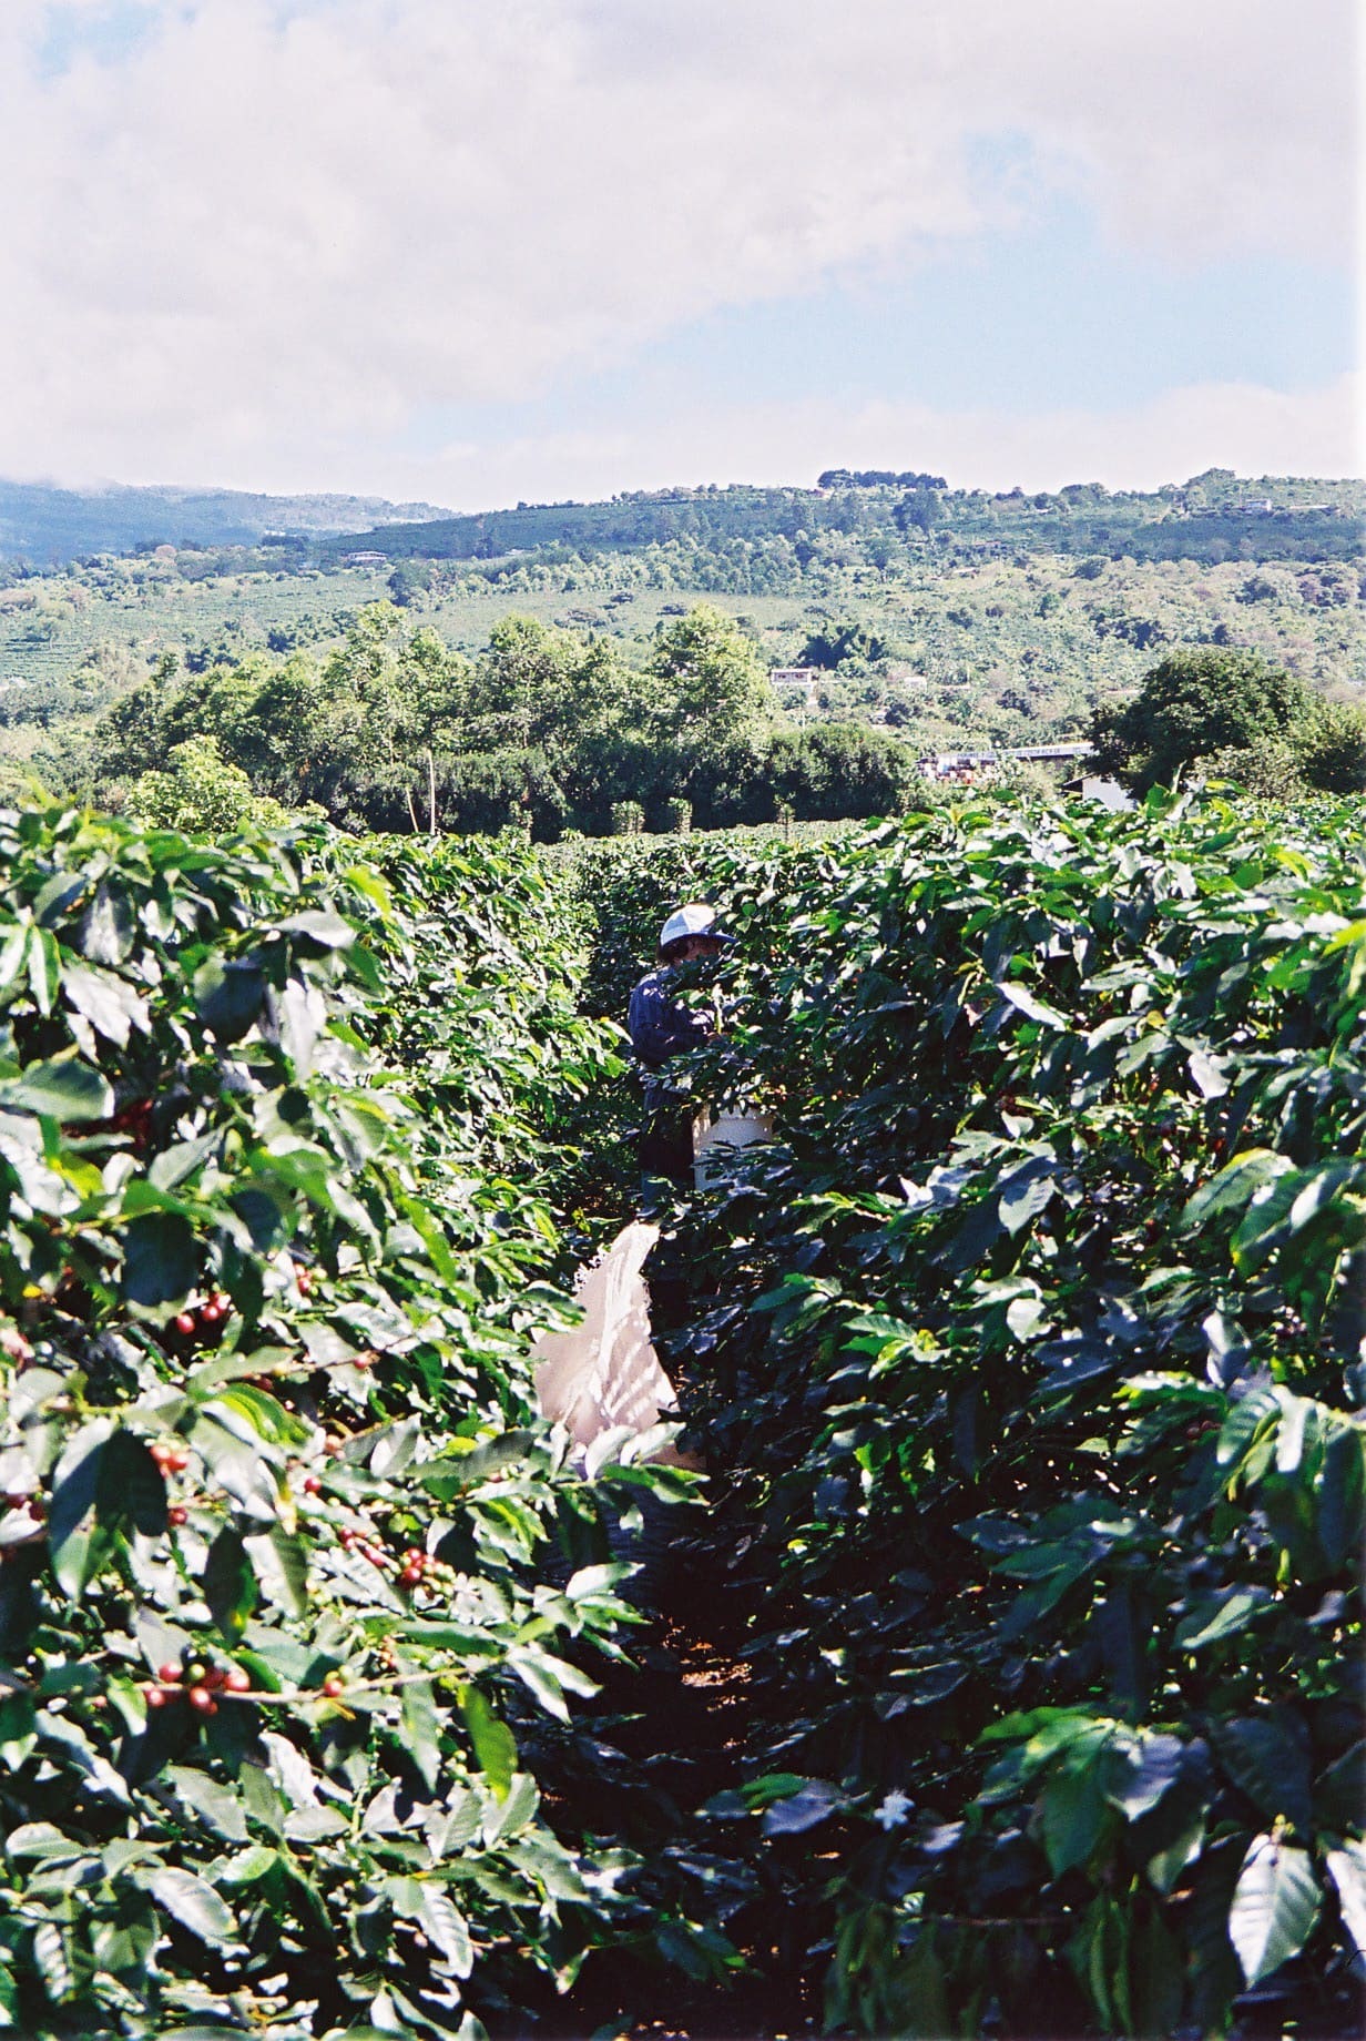
<path id="1" fill-rule="evenodd" d="M 0 2021 L 573 2033 L 628 1951 L 642 2019 L 769 1965 L 830 2033 L 1342 2031 L 1356 814 L 0 839 Z M 528 1365 L 695 894 L 693 1082 L 775 1123 L 671 1243 L 705 1510 Z M 734 1786 L 626 1823 L 650 1496 L 750 1698 Z"/>

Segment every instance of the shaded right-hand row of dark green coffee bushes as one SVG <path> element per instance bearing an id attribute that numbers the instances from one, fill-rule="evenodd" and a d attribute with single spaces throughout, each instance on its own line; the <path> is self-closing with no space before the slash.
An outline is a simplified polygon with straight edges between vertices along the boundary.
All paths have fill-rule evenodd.
<path id="1" fill-rule="evenodd" d="M 712 1835 L 834 2031 L 1354 2017 L 1364 847 L 1152 794 L 589 853 L 601 998 L 669 898 L 740 933 L 695 1082 L 777 1141 L 673 1341 L 752 1606 Z"/>

